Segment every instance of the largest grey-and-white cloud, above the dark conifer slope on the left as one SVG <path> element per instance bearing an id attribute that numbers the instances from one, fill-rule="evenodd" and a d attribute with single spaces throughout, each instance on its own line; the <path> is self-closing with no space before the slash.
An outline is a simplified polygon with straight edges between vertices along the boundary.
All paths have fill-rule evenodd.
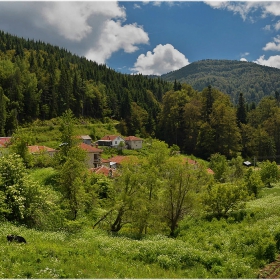
<path id="1" fill-rule="evenodd" d="M 125 21 L 125 9 L 117 1 L 0 2 L 2 30 L 64 47 L 98 63 L 106 63 L 114 52 L 134 52 L 138 44 L 149 42 L 141 26 Z"/>

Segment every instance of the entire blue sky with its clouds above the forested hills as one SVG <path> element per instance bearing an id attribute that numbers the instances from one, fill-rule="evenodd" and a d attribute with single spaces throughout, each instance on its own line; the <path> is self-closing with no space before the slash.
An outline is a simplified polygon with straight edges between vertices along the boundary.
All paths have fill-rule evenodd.
<path id="1" fill-rule="evenodd" d="M 0 30 L 127 74 L 203 59 L 280 68 L 280 1 L 0 1 Z"/>

